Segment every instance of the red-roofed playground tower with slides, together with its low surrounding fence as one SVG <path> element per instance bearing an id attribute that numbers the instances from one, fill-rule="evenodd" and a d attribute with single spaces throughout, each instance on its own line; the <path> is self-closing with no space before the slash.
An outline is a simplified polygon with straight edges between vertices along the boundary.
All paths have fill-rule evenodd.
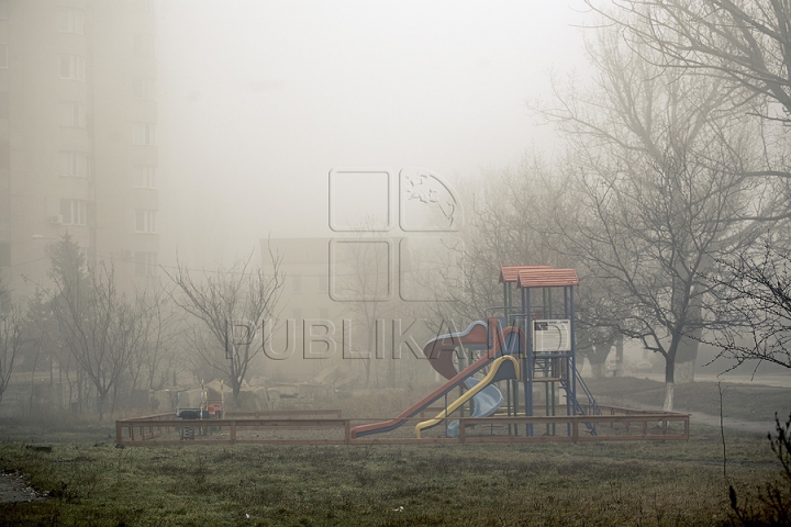
<path id="1" fill-rule="evenodd" d="M 576 367 L 573 288 L 579 281 L 573 269 L 505 266 L 500 282 L 503 306 L 499 311 L 503 316 L 474 322 L 464 332 L 430 340 L 423 352 L 446 382 L 397 417 L 353 426 L 364 419 L 343 419 L 339 411 L 223 410 L 211 421 L 211 429 L 220 430 L 220 437 L 200 442 L 354 445 L 689 438 L 688 414 L 597 404 Z M 458 395 L 453 399 L 455 393 Z M 196 439 L 194 434 L 183 433 L 185 411 L 177 413 L 180 419 L 159 414 L 118 421 L 116 442 L 154 445 Z M 203 410 L 198 414 L 188 417 L 202 419 Z M 409 429 L 404 428 L 408 423 L 414 423 L 411 437 L 403 433 Z M 433 437 L 426 436 L 437 429 L 442 430 L 438 437 L 436 431 Z M 172 437 L 172 430 L 180 430 L 178 439 Z M 298 431 L 294 435 L 287 430 Z M 310 430 L 310 437 L 305 437 L 305 430 Z"/>

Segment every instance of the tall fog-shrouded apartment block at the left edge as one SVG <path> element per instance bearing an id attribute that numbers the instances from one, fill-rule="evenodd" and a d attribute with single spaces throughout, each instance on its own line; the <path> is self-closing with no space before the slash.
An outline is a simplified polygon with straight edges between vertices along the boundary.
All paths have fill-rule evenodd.
<path id="1" fill-rule="evenodd" d="M 120 283 L 156 273 L 153 0 L 0 0 L 0 269 L 45 285 L 68 233 Z"/>

